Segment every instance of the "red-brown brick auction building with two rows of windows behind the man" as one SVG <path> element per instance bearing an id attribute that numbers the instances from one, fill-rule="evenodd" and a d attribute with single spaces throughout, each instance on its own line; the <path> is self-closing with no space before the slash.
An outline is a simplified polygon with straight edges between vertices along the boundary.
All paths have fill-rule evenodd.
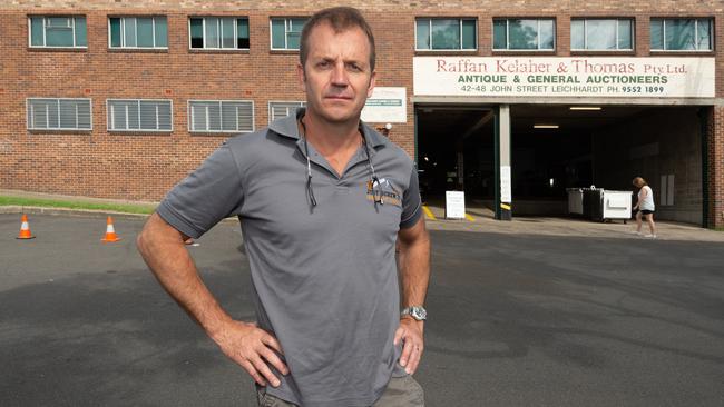
<path id="1" fill-rule="evenodd" d="M 299 106 L 299 31 L 333 3 L 4 2 L 0 188 L 159 200 Z M 659 219 L 724 226 L 721 1 L 344 4 L 376 37 L 363 118 L 430 199 L 559 214 L 567 187 L 640 175 Z"/>

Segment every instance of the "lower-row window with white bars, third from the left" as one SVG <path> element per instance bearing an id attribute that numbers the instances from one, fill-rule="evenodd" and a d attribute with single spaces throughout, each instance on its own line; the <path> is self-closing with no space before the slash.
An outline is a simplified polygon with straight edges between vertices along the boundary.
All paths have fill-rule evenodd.
<path id="1" fill-rule="evenodd" d="M 188 130 L 203 132 L 254 131 L 254 102 L 189 100 Z"/>

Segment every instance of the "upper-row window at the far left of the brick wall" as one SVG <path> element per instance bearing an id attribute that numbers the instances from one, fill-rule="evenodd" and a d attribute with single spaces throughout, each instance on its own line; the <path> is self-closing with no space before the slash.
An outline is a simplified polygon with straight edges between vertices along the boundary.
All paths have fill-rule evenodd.
<path id="1" fill-rule="evenodd" d="M 86 18 L 33 16 L 28 18 L 30 47 L 86 48 Z"/>

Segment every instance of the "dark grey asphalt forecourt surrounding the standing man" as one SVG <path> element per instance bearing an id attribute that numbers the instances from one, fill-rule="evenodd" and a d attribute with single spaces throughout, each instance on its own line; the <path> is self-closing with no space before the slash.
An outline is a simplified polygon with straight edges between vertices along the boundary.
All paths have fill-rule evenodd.
<path id="1" fill-rule="evenodd" d="M 147 271 L 141 225 L 104 245 L 104 217 L 33 215 L 20 241 L 0 215 L 0 406 L 255 406 Z M 431 225 L 428 406 L 724 405 L 724 244 L 537 226 Z M 198 242 L 212 291 L 253 319 L 238 226 Z"/>

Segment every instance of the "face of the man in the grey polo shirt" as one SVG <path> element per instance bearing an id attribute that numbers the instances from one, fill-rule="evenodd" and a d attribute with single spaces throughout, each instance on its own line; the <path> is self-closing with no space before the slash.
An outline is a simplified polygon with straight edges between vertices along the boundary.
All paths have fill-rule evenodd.
<path id="1" fill-rule="evenodd" d="M 322 23 L 309 37 L 309 56 L 297 66 L 307 110 L 321 119 L 343 123 L 358 121 L 374 88 L 370 43 L 360 28 L 335 33 Z"/>

